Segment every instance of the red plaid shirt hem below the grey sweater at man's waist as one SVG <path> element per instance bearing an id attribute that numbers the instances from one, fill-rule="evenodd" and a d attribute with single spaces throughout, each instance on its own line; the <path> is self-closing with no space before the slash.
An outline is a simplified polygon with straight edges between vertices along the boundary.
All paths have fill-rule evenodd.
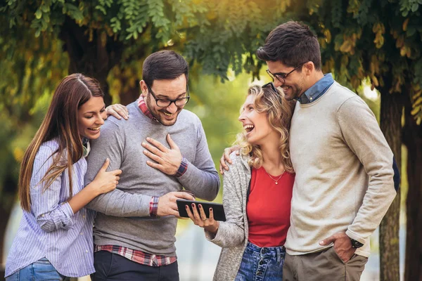
<path id="1" fill-rule="evenodd" d="M 95 245 L 94 252 L 96 251 L 109 251 L 144 266 L 168 266 L 177 261 L 177 256 L 160 256 L 116 245 Z"/>

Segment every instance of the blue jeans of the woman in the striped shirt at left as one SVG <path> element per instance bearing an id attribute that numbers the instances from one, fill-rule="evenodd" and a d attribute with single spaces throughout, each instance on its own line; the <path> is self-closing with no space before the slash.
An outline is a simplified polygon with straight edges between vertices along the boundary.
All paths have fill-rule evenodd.
<path id="1" fill-rule="evenodd" d="M 48 259 L 42 258 L 6 277 L 6 281 L 70 280 L 58 273 Z"/>

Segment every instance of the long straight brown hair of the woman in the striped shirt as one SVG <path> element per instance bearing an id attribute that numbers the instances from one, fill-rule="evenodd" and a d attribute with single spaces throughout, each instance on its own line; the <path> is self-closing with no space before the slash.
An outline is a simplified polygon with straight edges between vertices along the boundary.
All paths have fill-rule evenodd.
<path id="1" fill-rule="evenodd" d="M 103 97 L 104 94 L 98 81 L 83 74 L 71 74 L 58 84 L 49 110 L 25 151 L 20 166 L 18 192 L 20 206 L 25 211 L 31 209 L 30 181 L 35 156 L 41 144 L 53 138 L 58 141 L 58 149 L 51 154 L 53 164 L 38 185 L 44 183 L 45 191 L 65 169 L 68 169 L 70 198 L 72 197 L 72 165 L 81 159 L 84 152 L 79 134 L 77 110 L 92 96 Z"/>

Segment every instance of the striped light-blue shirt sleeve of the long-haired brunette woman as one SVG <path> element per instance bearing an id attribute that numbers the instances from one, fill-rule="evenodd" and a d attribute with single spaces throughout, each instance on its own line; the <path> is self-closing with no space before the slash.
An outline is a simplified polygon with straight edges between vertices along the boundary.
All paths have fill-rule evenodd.
<path id="1" fill-rule="evenodd" d="M 41 146 L 34 159 L 32 178 L 30 183 L 31 210 L 40 228 L 46 232 L 58 229 L 69 229 L 73 226 L 73 211 L 68 202 L 60 202 L 62 188 L 68 188 L 68 181 L 62 181 L 67 173 L 60 174 L 46 188 L 46 183 L 41 182 L 51 164 L 53 164 L 53 150 Z M 65 185 L 63 185 L 65 184 Z"/>

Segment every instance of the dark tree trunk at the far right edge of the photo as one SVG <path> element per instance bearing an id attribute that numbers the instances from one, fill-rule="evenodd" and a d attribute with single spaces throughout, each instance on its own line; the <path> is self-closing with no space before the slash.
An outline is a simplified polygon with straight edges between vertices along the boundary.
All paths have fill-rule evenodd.
<path id="1" fill-rule="evenodd" d="M 407 146 L 407 234 L 404 280 L 422 281 L 422 125 L 411 116 L 411 101 L 405 105 L 403 143 Z"/>

